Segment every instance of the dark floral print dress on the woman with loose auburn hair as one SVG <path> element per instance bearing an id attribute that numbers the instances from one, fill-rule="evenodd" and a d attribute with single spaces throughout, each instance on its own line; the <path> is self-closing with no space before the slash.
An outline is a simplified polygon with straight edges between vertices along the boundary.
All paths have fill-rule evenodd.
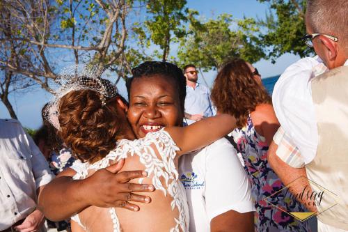
<path id="1" fill-rule="evenodd" d="M 247 124 L 242 129 L 231 132 L 236 150 L 244 162 L 244 169 L 251 181 L 251 192 L 255 201 L 255 231 L 310 231 L 308 222 L 300 222 L 286 212 L 304 212 L 301 204 L 292 204 L 285 199 L 284 194 L 276 194 L 272 198 L 275 206 L 264 201 L 267 196 L 281 190 L 284 185 L 267 162 L 268 145 L 266 139 L 256 132 L 249 114 Z M 285 203 L 286 202 L 286 203 Z"/>

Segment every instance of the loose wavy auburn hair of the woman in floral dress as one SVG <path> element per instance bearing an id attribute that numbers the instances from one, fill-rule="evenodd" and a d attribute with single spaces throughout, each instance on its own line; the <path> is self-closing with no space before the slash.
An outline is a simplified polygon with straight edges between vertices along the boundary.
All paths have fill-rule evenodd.
<path id="1" fill-rule="evenodd" d="M 216 109 L 237 118 L 237 127 L 246 125 L 248 114 L 261 103 L 271 104 L 271 97 L 259 84 L 246 61 L 232 59 L 219 70 L 212 88 Z"/>

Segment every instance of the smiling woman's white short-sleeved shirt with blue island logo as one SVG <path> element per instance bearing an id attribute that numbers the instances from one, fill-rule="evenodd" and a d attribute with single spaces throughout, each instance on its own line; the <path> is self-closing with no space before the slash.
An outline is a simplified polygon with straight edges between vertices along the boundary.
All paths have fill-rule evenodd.
<path id="1" fill-rule="evenodd" d="M 189 201 L 190 232 L 209 232 L 210 221 L 223 212 L 255 210 L 248 177 L 227 139 L 182 155 L 179 176 Z"/>

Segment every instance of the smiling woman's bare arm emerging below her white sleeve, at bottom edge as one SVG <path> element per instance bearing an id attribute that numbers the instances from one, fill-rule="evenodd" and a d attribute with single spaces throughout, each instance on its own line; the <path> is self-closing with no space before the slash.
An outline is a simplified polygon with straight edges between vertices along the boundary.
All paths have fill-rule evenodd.
<path id="1" fill-rule="evenodd" d="M 212 219 L 210 222 L 211 232 L 253 232 L 254 213 L 240 213 L 235 210 L 229 210 Z"/>

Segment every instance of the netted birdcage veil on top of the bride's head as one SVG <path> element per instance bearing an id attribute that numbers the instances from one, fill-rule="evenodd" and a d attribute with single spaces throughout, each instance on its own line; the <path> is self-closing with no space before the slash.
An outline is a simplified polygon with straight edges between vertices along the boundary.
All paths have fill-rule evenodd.
<path id="1" fill-rule="evenodd" d="M 104 68 L 98 68 L 95 65 L 72 65 L 63 68 L 54 81 L 57 88 L 53 92 L 54 98 L 48 103 L 44 111 L 45 119 L 57 130 L 61 129 L 58 121 L 59 101 L 71 91 L 95 91 L 100 94 L 100 101 L 104 106 L 107 98 L 113 98 L 118 93 L 114 84 L 102 78 L 104 73 Z"/>

